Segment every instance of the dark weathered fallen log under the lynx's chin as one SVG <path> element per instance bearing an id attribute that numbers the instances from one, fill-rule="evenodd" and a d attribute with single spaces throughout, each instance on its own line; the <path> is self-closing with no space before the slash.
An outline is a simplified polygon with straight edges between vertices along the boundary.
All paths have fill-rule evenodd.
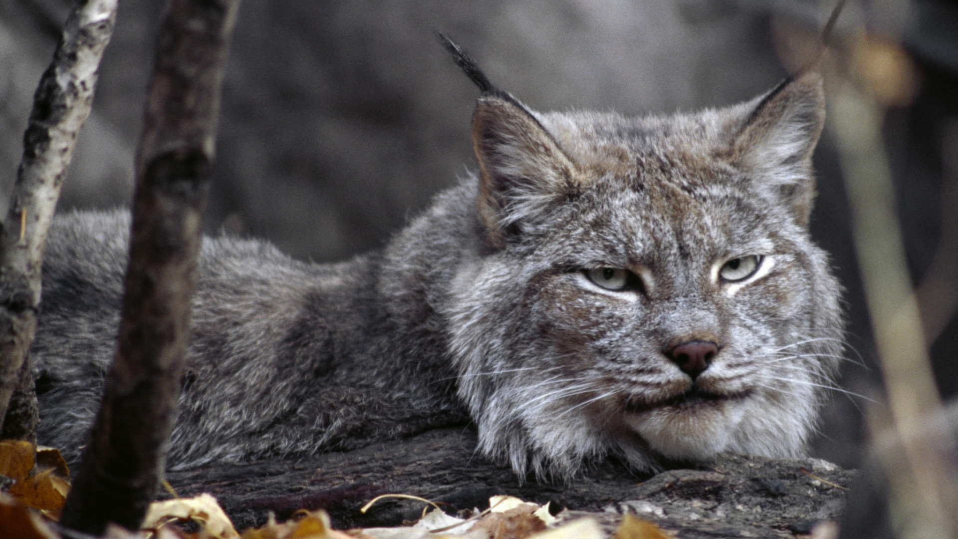
<path id="1" fill-rule="evenodd" d="M 813 523 L 839 517 L 854 472 L 818 459 L 723 456 L 692 469 L 650 476 L 609 458 L 575 480 L 519 481 L 513 471 L 475 452 L 467 428 L 430 431 L 346 453 L 217 464 L 170 472 L 180 496 L 210 492 L 237 528 L 259 526 L 273 512 L 283 520 L 301 508 L 324 508 L 333 526 L 399 526 L 423 504 L 387 499 L 401 493 L 444 503 L 447 511 L 484 508 L 509 494 L 566 508 L 564 519 L 592 514 L 614 527 L 625 513 L 655 522 L 678 537 L 792 537 Z"/>

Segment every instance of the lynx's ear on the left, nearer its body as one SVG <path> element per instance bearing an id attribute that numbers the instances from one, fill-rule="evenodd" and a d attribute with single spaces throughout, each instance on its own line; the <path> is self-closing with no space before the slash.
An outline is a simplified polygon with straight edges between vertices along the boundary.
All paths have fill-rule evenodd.
<path id="1" fill-rule="evenodd" d="M 494 248 L 573 188 L 575 164 L 533 113 L 505 92 L 479 98 L 472 147 L 480 169 L 479 218 Z"/>

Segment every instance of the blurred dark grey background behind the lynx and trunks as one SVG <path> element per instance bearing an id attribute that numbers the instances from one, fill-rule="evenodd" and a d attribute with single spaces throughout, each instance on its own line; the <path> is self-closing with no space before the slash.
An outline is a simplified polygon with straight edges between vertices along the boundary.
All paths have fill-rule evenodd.
<path id="1" fill-rule="evenodd" d="M 120 3 L 60 210 L 131 198 L 162 4 Z M 937 264 L 954 285 L 958 9 L 922 0 L 902 15 L 885 4 L 853 6 L 843 16 L 864 17 L 879 32 L 889 20 L 904 29 L 920 85 L 909 104 L 890 110 L 885 130 L 908 263 L 916 283 Z M 69 5 L 0 0 L 0 205 L 15 177 L 34 86 Z M 786 27 L 814 33 L 832 7 L 810 0 L 243 0 L 206 228 L 268 238 L 299 258 L 338 260 L 381 246 L 474 167 L 468 133 L 477 90 L 433 29 L 452 35 L 493 82 L 536 109 L 640 114 L 730 105 L 766 91 L 787 75 L 776 35 Z M 875 396 L 880 374 L 828 130 L 815 158 L 812 232 L 848 289 L 850 357 L 863 363 L 847 363 L 841 384 Z M 947 308 L 925 315 L 947 321 L 932 355 L 941 390 L 954 395 L 958 322 Z M 855 465 L 864 408 L 835 393 L 815 455 Z"/>

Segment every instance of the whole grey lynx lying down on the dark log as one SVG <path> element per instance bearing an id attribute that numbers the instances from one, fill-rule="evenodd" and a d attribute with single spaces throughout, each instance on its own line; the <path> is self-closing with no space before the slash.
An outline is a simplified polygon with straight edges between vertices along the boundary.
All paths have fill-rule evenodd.
<path id="1" fill-rule="evenodd" d="M 482 92 L 477 171 L 348 262 L 205 239 L 171 467 L 466 422 L 520 477 L 801 456 L 843 353 L 808 230 L 818 75 L 696 113 L 537 112 L 444 44 Z M 62 215 L 48 241 L 39 439 L 70 460 L 113 354 L 128 223 Z"/>

